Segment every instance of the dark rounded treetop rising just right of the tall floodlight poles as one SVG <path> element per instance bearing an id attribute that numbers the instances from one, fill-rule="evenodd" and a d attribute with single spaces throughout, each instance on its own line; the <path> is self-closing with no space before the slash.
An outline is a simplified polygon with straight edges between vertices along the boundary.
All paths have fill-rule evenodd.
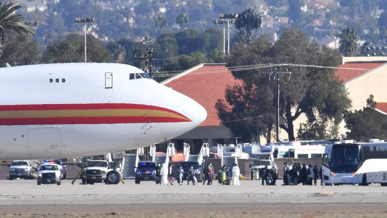
<path id="1" fill-rule="evenodd" d="M 261 17 L 251 7 L 238 14 L 235 28 L 238 29 L 238 41 L 248 43 L 257 37 L 255 31 L 261 25 Z"/>

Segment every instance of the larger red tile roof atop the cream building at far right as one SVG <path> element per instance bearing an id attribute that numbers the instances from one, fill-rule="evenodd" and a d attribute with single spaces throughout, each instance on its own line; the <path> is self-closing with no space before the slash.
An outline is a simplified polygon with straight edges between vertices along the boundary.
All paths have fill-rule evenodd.
<path id="1" fill-rule="evenodd" d="M 385 61 L 380 62 L 347 62 L 338 67 L 340 68 L 356 68 L 356 69 L 364 69 L 364 70 L 356 70 L 356 69 L 336 69 L 335 74 L 342 80 L 344 83 L 352 80 L 364 74 L 372 69 L 375 69 L 381 65 L 385 64 Z"/>

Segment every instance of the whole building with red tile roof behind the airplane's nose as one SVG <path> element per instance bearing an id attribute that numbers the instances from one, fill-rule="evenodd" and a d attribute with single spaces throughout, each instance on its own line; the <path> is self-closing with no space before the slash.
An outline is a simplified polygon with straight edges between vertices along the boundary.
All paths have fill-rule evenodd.
<path id="1" fill-rule="evenodd" d="M 201 146 L 204 142 L 208 142 L 210 147 L 216 146 L 217 143 L 231 143 L 233 135 L 218 118 L 215 104 L 218 99 L 225 99 L 225 90 L 228 85 L 241 85 L 242 83 L 241 80 L 234 78 L 226 64 L 199 64 L 161 82 L 194 99 L 207 111 L 207 119 L 202 124 L 167 143 L 175 143 L 175 147 L 179 150 L 182 150 L 183 142 L 188 142 L 195 147 Z"/>

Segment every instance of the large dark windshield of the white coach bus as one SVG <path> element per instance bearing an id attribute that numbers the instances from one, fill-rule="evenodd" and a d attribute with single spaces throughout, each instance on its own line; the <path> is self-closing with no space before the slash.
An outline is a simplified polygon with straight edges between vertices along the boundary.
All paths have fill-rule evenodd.
<path id="1" fill-rule="evenodd" d="M 359 166 L 358 145 L 333 147 L 330 170 L 334 173 L 354 173 Z"/>

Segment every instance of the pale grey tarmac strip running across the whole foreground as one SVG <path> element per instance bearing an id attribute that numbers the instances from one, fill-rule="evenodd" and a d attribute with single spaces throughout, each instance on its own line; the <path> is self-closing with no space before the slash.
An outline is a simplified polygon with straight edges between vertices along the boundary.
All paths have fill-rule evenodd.
<path id="1" fill-rule="evenodd" d="M 372 184 L 340 186 L 262 186 L 261 181 L 240 181 L 240 186 L 156 185 L 125 180 L 125 184 L 36 185 L 36 180 L 0 180 L 1 213 L 130 213 L 131 211 L 259 211 L 385 212 L 387 187 Z M 324 191 L 323 191 L 324 188 Z"/>

